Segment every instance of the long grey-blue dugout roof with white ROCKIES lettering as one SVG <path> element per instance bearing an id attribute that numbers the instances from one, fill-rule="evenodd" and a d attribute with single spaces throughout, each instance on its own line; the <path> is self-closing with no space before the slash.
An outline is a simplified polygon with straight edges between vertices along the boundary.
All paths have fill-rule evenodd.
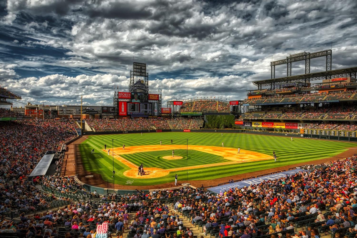
<path id="1" fill-rule="evenodd" d="M 260 184 L 263 181 L 267 181 L 267 180 L 275 180 L 278 178 L 285 178 L 286 176 L 290 176 L 292 174 L 296 174 L 298 172 L 305 172 L 307 170 L 305 169 L 293 169 L 293 170 L 289 170 L 289 171 L 285 171 L 285 172 L 281 172 L 281 173 L 274 173 L 274 174 L 270 174 L 267 176 L 262 176 L 262 177 L 257 177 L 257 178 L 251 178 L 251 179 L 247 179 L 244 181 L 240 181 L 240 182 L 235 182 L 235 183 L 227 183 L 221 186 L 217 186 L 217 187 L 212 187 L 212 188 L 208 188 L 209 191 L 213 192 L 213 193 L 220 193 L 220 191 L 224 192 L 225 190 L 229 190 L 230 188 L 232 188 L 232 190 L 234 190 L 235 188 L 242 188 L 244 186 L 250 186 L 252 184 Z"/>

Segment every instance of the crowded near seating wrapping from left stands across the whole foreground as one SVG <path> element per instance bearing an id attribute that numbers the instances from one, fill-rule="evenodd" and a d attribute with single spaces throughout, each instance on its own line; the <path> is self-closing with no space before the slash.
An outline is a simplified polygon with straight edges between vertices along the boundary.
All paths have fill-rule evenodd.
<path id="1" fill-rule="evenodd" d="M 1 123 L 0 236 L 101 237 L 103 230 L 97 225 L 103 223 L 108 224 L 110 237 L 120 234 L 117 229 L 123 227 L 130 238 L 355 237 L 357 233 L 355 155 L 305 166 L 310 172 L 219 194 L 182 187 L 98 198 L 72 178 L 58 176 L 58 171 L 34 178 L 33 183 L 27 181 L 45 151 L 59 150 L 64 141 L 76 136 L 74 123 Z M 76 199 L 55 197 L 37 184 Z"/>

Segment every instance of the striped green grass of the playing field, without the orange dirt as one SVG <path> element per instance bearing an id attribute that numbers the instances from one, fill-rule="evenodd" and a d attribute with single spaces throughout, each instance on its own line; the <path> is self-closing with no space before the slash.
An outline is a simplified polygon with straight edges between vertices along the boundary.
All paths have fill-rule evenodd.
<path id="1" fill-rule="evenodd" d="M 175 173 L 178 175 L 179 182 L 188 180 L 207 180 L 221 177 L 232 176 L 235 174 L 260 171 L 262 169 L 276 168 L 300 162 L 308 162 L 316 159 L 328 158 L 336 156 L 347 148 L 357 147 L 356 143 L 341 142 L 341 141 L 324 141 L 306 138 L 294 138 L 280 136 L 254 135 L 245 133 L 210 133 L 210 132 L 162 132 L 162 133 L 133 133 L 133 134 L 110 134 L 89 136 L 88 139 L 79 145 L 82 161 L 87 171 L 101 174 L 106 181 L 112 179 L 112 156 L 108 156 L 102 151 L 104 144 L 108 148 L 113 146 L 139 146 L 139 145 L 159 145 L 162 141 L 163 145 L 171 144 L 171 139 L 175 145 L 205 145 L 220 147 L 224 142 L 225 147 L 238 148 L 264 153 L 272 156 L 272 151 L 277 155 L 277 162 L 273 160 L 265 160 L 258 162 L 246 162 L 237 164 L 228 164 L 217 167 L 205 167 L 200 169 L 182 169 L 177 172 L 170 172 L 169 175 L 160 178 L 151 179 L 131 179 L 123 175 L 123 172 L 130 169 L 126 165 L 114 159 L 115 167 L 115 182 L 125 185 L 128 179 L 134 180 L 131 185 L 151 185 L 161 184 L 174 181 Z M 95 149 L 95 153 L 91 154 L 91 150 Z M 162 159 L 162 156 L 171 155 L 171 151 L 152 151 L 140 152 L 130 155 L 122 155 L 122 157 L 131 161 L 134 164 L 144 163 L 145 167 L 159 168 L 175 168 L 185 167 L 186 150 L 175 150 L 175 155 L 180 155 L 183 158 L 179 160 L 168 161 Z M 188 166 L 196 164 L 207 164 L 225 162 L 222 157 L 206 154 L 200 151 L 188 151 Z M 144 167 L 144 168 L 145 168 Z M 226 181 L 222 181 L 226 182 Z"/>

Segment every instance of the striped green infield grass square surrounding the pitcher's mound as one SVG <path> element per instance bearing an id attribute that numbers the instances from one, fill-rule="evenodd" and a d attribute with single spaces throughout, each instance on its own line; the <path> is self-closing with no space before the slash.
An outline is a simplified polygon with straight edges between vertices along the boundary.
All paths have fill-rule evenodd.
<path id="1" fill-rule="evenodd" d="M 171 142 L 170 142 L 171 143 Z M 144 163 L 144 167 L 147 168 L 182 168 L 187 164 L 190 166 L 212 163 L 229 162 L 227 159 L 223 159 L 221 156 L 216 156 L 196 150 L 188 150 L 188 159 L 186 159 L 186 150 L 175 150 L 175 156 L 181 156 L 182 159 L 163 159 L 163 156 L 172 156 L 172 150 L 164 151 L 151 151 L 151 152 L 139 152 L 129 155 L 121 155 L 121 157 L 129 160 L 130 162 L 140 166 Z"/>

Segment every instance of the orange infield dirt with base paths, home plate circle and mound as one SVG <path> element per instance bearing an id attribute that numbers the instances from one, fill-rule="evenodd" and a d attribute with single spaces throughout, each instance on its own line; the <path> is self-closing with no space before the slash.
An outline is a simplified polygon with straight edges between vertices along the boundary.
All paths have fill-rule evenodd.
<path id="1" fill-rule="evenodd" d="M 137 175 L 138 174 L 138 166 L 127 159 L 121 157 L 120 155 L 127 155 L 139 152 L 150 152 L 150 151 L 165 151 L 165 150 L 186 150 L 187 145 L 162 145 L 162 146 L 131 146 L 125 147 L 125 150 L 122 147 L 114 148 L 114 151 L 110 152 L 110 155 L 114 155 L 116 159 L 118 159 L 121 163 L 128 166 L 130 169 L 125 171 L 123 174 L 128 178 L 159 178 L 166 176 L 169 172 L 180 171 L 182 168 L 171 168 L 171 169 L 161 169 L 161 168 L 145 168 L 145 175 Z M 224 159 L 229 160 L 229 162 L 223 163 L 212 163 L 212 164 L 202 164 L 197 166 L 184 167 L 185 169 L 196 169 L 203 167 L 212 167 L 212 166 L 221 166 L 227 164 L 235 164 L 241 162 L 252 162 L 252 161 L 260 161 L 265 159 L 273 159 L 272 156 L 265 155 L 263 153 L 258 153 L 254 151 L 240 150 L 238 154 L 238 150 L 235 148 L 229 147 L 217 147 L 217 146 L 197 146 L 197 145 L 189 145 L 189 150 L 197 150 L 205 153 L 210 153 L 212 155 L 221 156 Z M 106 151 L 106 150 L 103 150 Z M 164 156 L 164 159 L 176 159 L 175 157 L 181 156 Z M 179 159 L 179 158 L 177 158 Z"/>

